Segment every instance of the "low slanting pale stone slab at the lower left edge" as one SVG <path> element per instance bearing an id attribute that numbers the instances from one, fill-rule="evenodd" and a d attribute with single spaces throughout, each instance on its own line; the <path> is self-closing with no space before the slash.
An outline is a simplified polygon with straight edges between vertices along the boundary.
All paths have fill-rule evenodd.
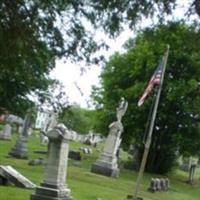
<path id="1" fill-rule="evenodd" d="M 3 166 L 0 165 L 0 176 L 3 177 L 4 180 L 7 180 L 10 183 L 18 187 L 24 188 L 34 188 L 35 184 L 16 171 L 11 166 Z"/>

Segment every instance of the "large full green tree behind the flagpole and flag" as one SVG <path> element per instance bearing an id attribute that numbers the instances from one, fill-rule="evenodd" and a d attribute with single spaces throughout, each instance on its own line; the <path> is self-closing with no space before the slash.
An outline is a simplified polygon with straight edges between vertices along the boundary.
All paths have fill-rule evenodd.
<path id="1" fill-rule="evenodd" d="M 200 153 L 200 29 L 199 24 L 171 22 L 147 28 L 129 40 L 126 53 L 114 54 L 101 75 L 102 87 L 94 90 L 99 106 L 101 130 L 115 119 L 121 96 L 128 102 L 123 124 L 123 145 L 143 151 L 148 113 L 156 92 L 137 106 L 166 44 L 170 45 L 163 91 L 159 103 L 152 145 L 147 162 L 149 171 L 167 172 L 177 154 Z M 107 123 L 105 123 L 107 122 Z"/>

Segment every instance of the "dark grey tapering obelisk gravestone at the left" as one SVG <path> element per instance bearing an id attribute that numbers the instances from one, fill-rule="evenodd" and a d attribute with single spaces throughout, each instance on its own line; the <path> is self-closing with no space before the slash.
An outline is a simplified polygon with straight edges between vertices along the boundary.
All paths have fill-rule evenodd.
<path id="1" fill-rule="evenodd" d="M 28 110 L 23 123 L 22 133 L 20 134 L 15 146 L 8 153 L 9 156 L 20 159 L 28 158 L 27 141 L 28 141 L 28 128 L 30 126 L 30 123 L 31 123 L 31 110 Z"/>

